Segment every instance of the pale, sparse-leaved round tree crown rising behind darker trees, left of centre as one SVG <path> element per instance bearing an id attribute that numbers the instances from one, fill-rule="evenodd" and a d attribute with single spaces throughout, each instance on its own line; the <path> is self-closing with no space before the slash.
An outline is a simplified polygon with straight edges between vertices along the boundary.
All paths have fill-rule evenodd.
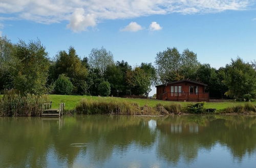
<path id="1" fill-rule="evenodd" d="M 92 68 L 99 69 L 100 74 L 103 76 L 106 67 L 114 64 L 113 54 L 105 48 L 93 48 L 89 54 L 89 64 Z"/>

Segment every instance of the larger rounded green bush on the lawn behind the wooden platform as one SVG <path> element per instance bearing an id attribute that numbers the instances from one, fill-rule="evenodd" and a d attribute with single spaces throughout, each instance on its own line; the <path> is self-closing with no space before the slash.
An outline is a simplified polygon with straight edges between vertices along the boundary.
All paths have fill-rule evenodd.
<path id="1" fill-rule="evenodd" d="M 60 95 L 69 95 L 72 93 L 74 86 L 69 77 L 60 74 L 55 82 L 55 93 Z"/>

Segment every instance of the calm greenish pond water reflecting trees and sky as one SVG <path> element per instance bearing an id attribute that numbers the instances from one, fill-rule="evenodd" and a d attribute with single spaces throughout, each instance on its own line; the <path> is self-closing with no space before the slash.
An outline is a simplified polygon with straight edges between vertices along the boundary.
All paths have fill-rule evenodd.
<path id="1" fill-rule="evenodd" d="M 0 118 L 0 167 L 256 167 L 255 116 Z"/>

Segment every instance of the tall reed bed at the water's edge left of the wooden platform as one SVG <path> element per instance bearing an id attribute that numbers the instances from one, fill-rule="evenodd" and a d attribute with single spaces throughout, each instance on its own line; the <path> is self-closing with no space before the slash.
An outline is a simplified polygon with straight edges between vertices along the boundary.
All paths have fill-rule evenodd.
<path id="1" fill-rule="evenodd" d="M 45 102 L 49 102 L 46 95 L 21 95 L 13 91 L 7 91 L 0 98 L 0 116 L 40 116 L 42 104 Z"/>

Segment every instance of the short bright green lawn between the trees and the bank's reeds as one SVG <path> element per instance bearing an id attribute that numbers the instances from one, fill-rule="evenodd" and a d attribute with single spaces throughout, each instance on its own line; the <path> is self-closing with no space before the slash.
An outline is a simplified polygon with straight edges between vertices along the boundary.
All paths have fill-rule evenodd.
<path id="1" fill-rule="evenodd" d="M 154 100 L 154 99 L 139 99 L 139 98 L 119 98 L 119 97 L 98 97 L 98 96 L 72 96 L 72 95 L 49 95 L 50 100 L 53 103 L 53 108 L 58 108 L 58 103 L 66 103 L 66 109 L 74 109 L 75 106 L 80 102 L 81 99 L 95 100 L 95 101 L 129 101 L 139 103 L 140 106 L 145 104 L 149 106 L 156 106 L 156 104 L 161 103 L 163 105 L 170 103 L 180 103 L 185 105 L 191 102 L 176 102 L 176 101 L 163 101 L 163 100 Z M 195 102 L 193 102 L 195 103 Z M 256 102 L 253 102 L 256 104 Z M 217 110 L 224 109 L 229 106 L 244 104 L 244 102 L 206 102 L 205 108 L 216 108 Z"/>

